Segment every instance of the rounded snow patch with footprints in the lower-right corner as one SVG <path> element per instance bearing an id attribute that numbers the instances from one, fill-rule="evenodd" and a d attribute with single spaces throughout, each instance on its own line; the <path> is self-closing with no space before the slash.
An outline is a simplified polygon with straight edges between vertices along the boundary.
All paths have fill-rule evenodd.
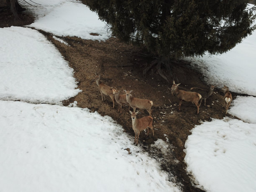
<path id="1" fill-rule="evenodd" d="M 256 191 L 256 124 L 214 119 L 185 143 L 187 171 L 210 192 Z"/>

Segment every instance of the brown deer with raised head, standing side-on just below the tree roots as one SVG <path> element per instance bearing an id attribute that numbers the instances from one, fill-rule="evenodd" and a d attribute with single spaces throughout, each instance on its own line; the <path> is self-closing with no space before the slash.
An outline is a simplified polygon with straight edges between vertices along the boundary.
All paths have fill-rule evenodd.
<path id="1" fill-rule="evenodd" d="M 194 102 L 195 105 L 197 106 L 197 114 L 199 113 L 199 100 L 202 98 L 202 96 L 199 93 L 196 92 L 188 92 L 188 91 L 183 91 L 179 90 L 178 86 L 179 84 L 175 84 L 173 81 L 171 93 L 173 96 L 177 97 L 179 99 L 179 111 L 180 111 L 180 106 L 182 104 L 182 101 L 187 101 L 187 102 Z"/>

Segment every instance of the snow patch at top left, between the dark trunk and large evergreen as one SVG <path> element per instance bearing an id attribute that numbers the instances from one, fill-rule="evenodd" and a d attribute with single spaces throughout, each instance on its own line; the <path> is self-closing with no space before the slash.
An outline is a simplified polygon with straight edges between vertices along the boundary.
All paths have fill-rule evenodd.
<path id="1" fill-rule="evenodd" d="M 99 20 L 95 12 L 79 1 L 35 0 L 35 6 L 27 5 L 33 13 L 37 13 L 38 19 L 28 25 L 36 29 L 53 33 L 56 36 L 77 36 L 82 39 L 102 40 L 111 37 L 106 24 Z M 92 36 L 97 33 L 99 36 Z"/>

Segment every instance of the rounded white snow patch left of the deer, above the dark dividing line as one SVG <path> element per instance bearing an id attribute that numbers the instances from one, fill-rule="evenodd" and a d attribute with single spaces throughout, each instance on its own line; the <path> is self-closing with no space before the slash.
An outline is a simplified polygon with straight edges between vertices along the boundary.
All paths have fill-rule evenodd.
<path id="1" fill-rule="evenodd" d="M 0 28 L 0 99 L 59 103 L 80 91 L 73 69 L 36 30 Z"/>

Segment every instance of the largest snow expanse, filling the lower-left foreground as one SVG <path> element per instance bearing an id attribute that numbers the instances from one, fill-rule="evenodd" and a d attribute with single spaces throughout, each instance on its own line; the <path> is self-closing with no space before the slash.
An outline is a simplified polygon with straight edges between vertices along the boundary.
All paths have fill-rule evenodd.
<path id="1" fill-rule="evenodd" d="M 179 191 L 108 116 L 14 101 L 0 108 L 0 191 Z"/>

